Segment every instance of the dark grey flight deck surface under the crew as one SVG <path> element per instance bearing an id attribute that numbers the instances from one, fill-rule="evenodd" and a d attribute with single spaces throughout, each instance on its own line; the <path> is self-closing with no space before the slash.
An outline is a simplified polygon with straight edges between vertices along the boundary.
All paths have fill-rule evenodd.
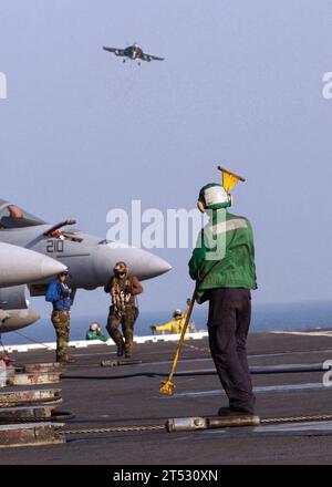
<path id="1" fill-rule="evenodd" d="M 54 387 L 62 388 L 61 411 L 75 418 L 66 427 L 96 428 L 164 424 L 167 418 L 215 416 L 227 405 L 217 375 L 195 375 L 214 369 L 207 340 L 186 341 L 172 397 L 158 393 L 170 369 L 175 342 L 136 344 L 133 359 L 142 364 L 101 367 L 115 360 L 114 348 L 104 344 L 72 349 L 76 358 Z M 251 334 L 250 365 L 319 364 L 332 360 L 331 336 Z M 13 353 L 18 362 L 52 362 L 54 352 Z M 332 413 L 332 386 L 322 385 L 322 371 L 255 374 L 257 414 L 261 417 Z M 23 390 L 27 387 L 6 387 Z M 31 386 L 50 388 L 52 384 Z M 0 464 L 87 465 L 222 465 L 222 464 L 330 464 L 332 422 L 269 425 L 194 433 L 127 432 L 68 435 L 62 445 L 1 449 Z"/>

